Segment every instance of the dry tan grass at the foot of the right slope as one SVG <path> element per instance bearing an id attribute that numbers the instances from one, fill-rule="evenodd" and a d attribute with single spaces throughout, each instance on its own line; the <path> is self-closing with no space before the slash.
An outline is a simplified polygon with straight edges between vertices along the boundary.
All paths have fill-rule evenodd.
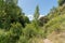
<path id="1" fill-rule="evenodd" d="M 65 31 L 60 33 L 53 32 L 48 35 L 48 39 L 50 39 L 53 43 L 65 43 Z"/>

